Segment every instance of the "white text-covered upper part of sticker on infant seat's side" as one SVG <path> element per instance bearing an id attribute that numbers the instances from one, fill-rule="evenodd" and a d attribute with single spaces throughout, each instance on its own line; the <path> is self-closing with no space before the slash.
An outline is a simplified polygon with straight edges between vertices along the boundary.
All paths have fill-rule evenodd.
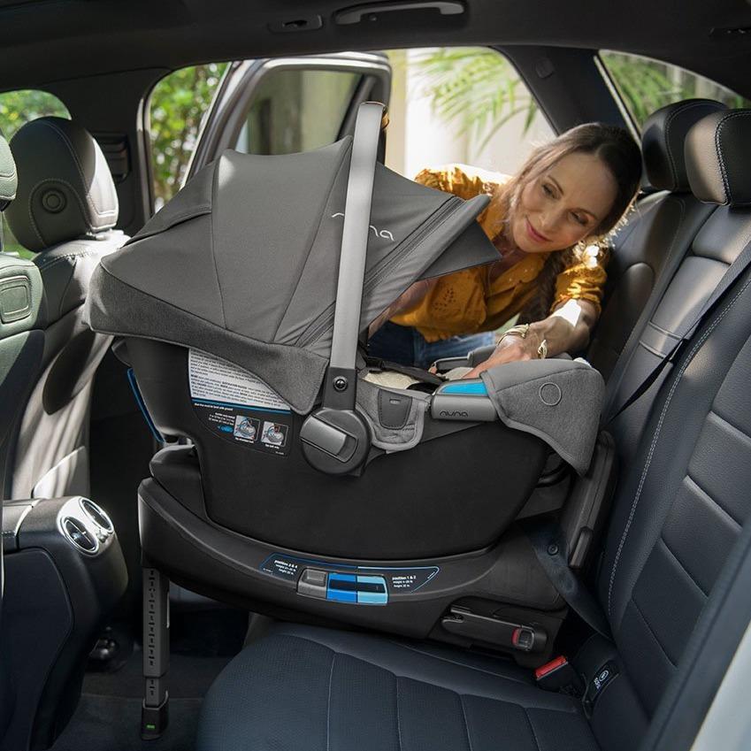
<path id="1" fill-rule="evenodd" d="M 188 354 L 188 379 L 193 399 L 265 410 L 289 410 L 289 404 L 262 380 L 234 364 L 204 355 L 196 349 L 191 349 Z"/>

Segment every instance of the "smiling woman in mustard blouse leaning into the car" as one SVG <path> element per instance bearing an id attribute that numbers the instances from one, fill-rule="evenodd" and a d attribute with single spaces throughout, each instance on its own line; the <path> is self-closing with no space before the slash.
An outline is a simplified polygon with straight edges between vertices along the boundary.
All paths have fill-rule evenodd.
<path id="1" fill-rule="evenodd" d="M 391 319 L 372 336 L 370 353 L 427 367 L 493 343 L 489 332 L 517 314 L 521 325 L 467 377 L 512 360 L 584 349 L 606 279 L 602 241 L 631 205 L 640 176 L 631 135 L 600 123 L 574 127 L 536 149 L 502 182 L 463 166 L 420 172 L 416 180 L 430 188 L 492 196 L 478 221 L 499 258 L 412 285 L 372 326 L 374 332 Z"/>

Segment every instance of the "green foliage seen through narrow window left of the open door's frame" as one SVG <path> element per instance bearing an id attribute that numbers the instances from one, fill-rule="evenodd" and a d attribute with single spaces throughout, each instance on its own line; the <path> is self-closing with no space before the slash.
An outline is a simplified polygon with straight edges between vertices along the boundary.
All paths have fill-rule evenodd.
<path id="1" fill-rule="evenodd" d="M 180 188 L 203 116 L 226 65 L 182 68 L 160 80 L 151 94 L 151 154 L 157 208 Z"/>

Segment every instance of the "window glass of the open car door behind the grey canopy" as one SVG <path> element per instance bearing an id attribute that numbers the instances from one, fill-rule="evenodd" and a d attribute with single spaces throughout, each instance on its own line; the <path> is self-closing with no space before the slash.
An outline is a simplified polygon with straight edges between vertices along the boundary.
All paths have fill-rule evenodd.
<path id="1" fill-rule="evenodd" d="M 234 146 L 246 154 L 290 154 L 336 141 L 358 73 L 272 70 L 253 96 Z"/>

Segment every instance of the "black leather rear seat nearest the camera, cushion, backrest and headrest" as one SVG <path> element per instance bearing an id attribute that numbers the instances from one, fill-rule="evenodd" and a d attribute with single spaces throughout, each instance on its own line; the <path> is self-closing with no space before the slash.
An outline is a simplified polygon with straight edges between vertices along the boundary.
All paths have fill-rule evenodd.
<path id="1" fill-rule="evenodd" d="M 693 272 L 707 268 L 717 282 L 751 238 L 751 210 L 743 208 L 751 204 L 749 157 L 751 111 L 709 115 L 692 131 L 692 188 L 724 206 L 701 229 L 696 257 L 686 258 L 687 271 L 671 282 L 665 304 L 701 304 L 697 298 L 709 293 L 696 289 L 703 279 Z M 613 643 L 594 637 L 575 660 L 587 684 L 606 663 L 617 673 L 591 717 L 581 701 L 540 690 L 527 671 L 500 658 L 287 625 L 220 674 L 203 704 L 198 751 L 655 747 L 663 730 L 655 716 L 665 694 L 675 698 L 683 657 L 701 659 L 708 648 L 709 614 L 728 592 L 727 581 L 716 586 L 728 577 L 724 564 L 748 552 L 749 285 L 745 272 L 695 333 L 659 389 L 644 439 L 631 447 L 635 460 L 622 471 L 596 584 Z M 686 748 L 686 733 L 696 731 L 706 709 L 700 702 L 681 718 L 685 737 L 660 747 Z"/>

